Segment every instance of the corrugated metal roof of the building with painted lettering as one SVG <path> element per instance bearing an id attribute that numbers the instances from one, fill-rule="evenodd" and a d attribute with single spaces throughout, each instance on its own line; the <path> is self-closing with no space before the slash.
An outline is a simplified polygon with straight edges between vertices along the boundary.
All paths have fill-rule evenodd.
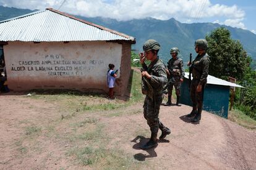
<path id="1" fill-rule="evenodd" d="M 54 9 L 0 22 L 0 41 L 111 41 L 135 38 Z"/>

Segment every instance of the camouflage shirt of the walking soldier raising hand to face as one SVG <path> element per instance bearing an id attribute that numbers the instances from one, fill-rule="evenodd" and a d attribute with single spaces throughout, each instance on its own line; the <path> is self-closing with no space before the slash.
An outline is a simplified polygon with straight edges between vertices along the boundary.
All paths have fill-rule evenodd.
<path id="1" fill-rule="evenodd" d="M 143 63 L 142 67 L 151 75 L 151 79 L 148 79 L 148 82 L 153 87 L 155 94 L 162 94 L 163 87 L 167 83 L 164 63 L 160 59 L 156 59 L 148 66 Z"/>

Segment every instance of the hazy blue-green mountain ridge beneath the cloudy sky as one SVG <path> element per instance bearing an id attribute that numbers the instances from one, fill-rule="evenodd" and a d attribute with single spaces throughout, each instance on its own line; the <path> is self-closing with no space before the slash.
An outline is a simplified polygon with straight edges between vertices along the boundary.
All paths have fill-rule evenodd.
<path id="1" fill-rule="evenodd" d="M 36 10 L 0 6 L 0 21 L 35 11 Z M 160 58 L 165 62 L 170 59 L 169 49 L 171 49 L 171 47 L 178 47 L 181 51 L 181 57 L 186 62 L 189 59 L 190 53 L 194 56 L 196 55 L 194 52 L 195 39 L 205 38 L 206 34 L 210 34 L 211 31 L 216 28 L 224 26 L 231 31 L 233 39 L 241 41 L 247 54 L 250 55 L 252 59 L 256 60 L 256 34 L 248 30 L 242 30 L 241 28 L 233 28 L 231 26 L 210 22 L 181 23 L 175 18 L 157 20 L 147 17 L 145 19 L 117 21 L 111 18 L 74 16 L 134 36 L 137 43 L 134 44 L 132 48 L 135 51 L 142 51 L 143 42 L 147 41 L 147 39 L 156 39 L 156 41 L 161 44 Z"/>

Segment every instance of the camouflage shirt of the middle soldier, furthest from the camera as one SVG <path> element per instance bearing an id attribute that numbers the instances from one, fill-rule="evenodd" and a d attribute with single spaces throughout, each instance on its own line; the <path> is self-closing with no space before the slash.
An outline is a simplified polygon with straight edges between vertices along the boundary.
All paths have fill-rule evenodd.
<path id="1" fill-rule="evenodd" d="M 183 79 L 185 76 L 185 70 L 183 66 L 184 64 L 182 59 L 178 57 L 176 59 L 171 58 L 167 63 L 167 68 L 171 74 L 171 78 L 173 76 L 181 76 Z"/>

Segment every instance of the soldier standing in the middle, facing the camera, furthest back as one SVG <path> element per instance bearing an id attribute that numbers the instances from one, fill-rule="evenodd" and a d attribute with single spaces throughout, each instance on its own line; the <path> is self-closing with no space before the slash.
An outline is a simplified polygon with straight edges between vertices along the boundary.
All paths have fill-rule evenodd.
<path id="1" fill-rule="evenodd" d="M 173 47 L 170 51 L 172 58 L 167 63 L 166 73 L 168 75 L 169 85 L 168 101 L 164 103 L 165 106 L 171 105 L 171 94 L 173 92 L 173 86 L 177 96 L 176 105 L 181 106 L 179 99 L 181 97 L 181 83 L 183 82 L 185 72 L 183 67 L 183 60 L 177 56 L 178 53 L 179 49 L 177 47 Z"/>

